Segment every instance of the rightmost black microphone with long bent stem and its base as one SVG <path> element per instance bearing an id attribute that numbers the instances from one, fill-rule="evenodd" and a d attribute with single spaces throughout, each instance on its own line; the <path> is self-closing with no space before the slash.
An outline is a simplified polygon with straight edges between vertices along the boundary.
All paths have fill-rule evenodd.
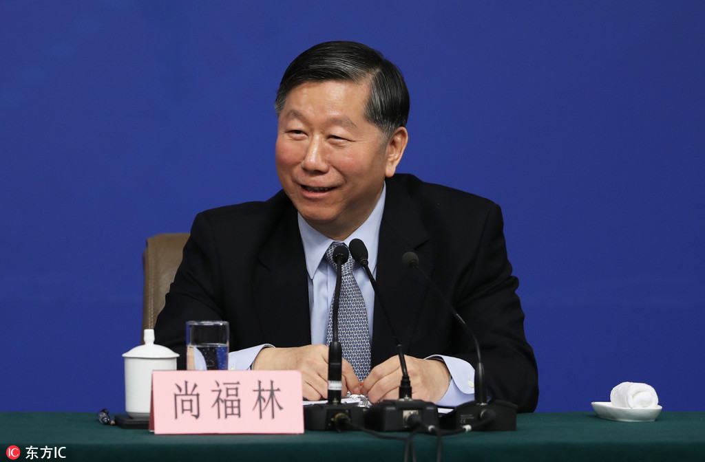
<path id="1" fill-rule="evenodd" d="M 472 430 L 516 430 L 517 429 L 517 406 L 507 401 L 498 399 L 487 402 L 487 385 L 485 380 L 484 366 L 480 354 L 480 345 L 477 337 L 465 320 L 453 308 L 450 301 L 443 295 L 441 289 L 434 284 L 431 278 L 419 266 L 419 256 L 414 252 L 405 253 L 401 261 L 404 266 L 415 268 L 424 277 L 427 285 L 436 294 L 436 297 L 443 302 L 443 306 L 448 308 L 450 314 L 460 323 L 475 344 L 477 353 L 477 366 L 475 366 L 475 399 L 469 403 L 457 406 L 455 410 L 441 418 L 441 427 L 457 429 L 470 425 Z"/>

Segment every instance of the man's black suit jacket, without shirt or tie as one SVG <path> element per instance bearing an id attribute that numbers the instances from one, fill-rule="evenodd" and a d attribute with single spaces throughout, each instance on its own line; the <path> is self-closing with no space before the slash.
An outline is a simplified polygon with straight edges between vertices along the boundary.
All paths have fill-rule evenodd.
<path id="1" fill-rule="evenodd" d="M 402 255 L 412 250 L 477 335 L 492 396 L 532 411 L 537 365 L 524 335 L 500 208 L 412 175 L 395 175 L 386 185 L 376 280 L 405 353 L 476 362 L 474 344 L 457 321 L 422 277 L 403 267 Z M 309 344 L 307 277 L 296 210 L 283 192 L 266 202 L 199 213 L 157 319 L 157 343 L 183 358 L 187 320 L 224 319 L 233 351 L 263 343 Z M 393 335 L 376 307 L 372 366 L 395 354 Z"/>

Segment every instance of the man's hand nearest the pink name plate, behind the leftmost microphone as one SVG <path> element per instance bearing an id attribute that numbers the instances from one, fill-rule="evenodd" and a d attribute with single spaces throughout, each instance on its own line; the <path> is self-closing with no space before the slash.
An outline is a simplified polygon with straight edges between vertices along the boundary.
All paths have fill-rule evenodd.
<path id="1" fill-rule="evenodd" d="M 304 399 L 319 401 L 328 398 L 328 346 L 306 345 L 295 348 L 265 348 L 259 351 L 252 369 L 300 370 Z M 343 396 L 360 393 L 353 366 L 343 358 Z"/>

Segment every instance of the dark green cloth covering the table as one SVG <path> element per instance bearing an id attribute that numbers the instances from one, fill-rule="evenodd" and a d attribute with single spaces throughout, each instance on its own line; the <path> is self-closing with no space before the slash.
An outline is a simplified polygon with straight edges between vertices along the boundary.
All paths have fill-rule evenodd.
<path id="1" fill-rule="evenodd" d="M 402 461 L 404 451 L 403 442 L 364 432 L 153 435 L 101 425 L 94 413 L 0 413 L 0 443 L 4 450 L 18 447 L 18 461 L 32 459 L 31 447 L 36 448 L 35 460 L 67 462 L 392 462 Z M 436 437 L 417 435 L 414 446 L 418 461 L 435 460 Z M 516 432 L 443 437 L 443 460 L 705 461 L 705 412 L 662 412 L 648 423 L 613 422 L 587 412 L 520 414 Z"/>

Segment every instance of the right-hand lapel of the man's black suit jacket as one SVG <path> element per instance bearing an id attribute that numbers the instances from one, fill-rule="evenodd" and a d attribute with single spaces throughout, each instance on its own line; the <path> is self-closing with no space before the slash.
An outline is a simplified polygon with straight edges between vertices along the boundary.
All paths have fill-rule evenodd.
<path id="1" fill-rule="evenodd" d="M 408 349 L 422 301 L 427 293 L 411 268 L 401 263 L 403 254 L 415 251 L 424 270 L 433 270 L 433 243 L 410 196 L 394 179 L 387 180 L 387 196 L 379 230 L 376 280 L 391 324 L 401 344 Z M 424 258 L 425 257 L 425 258 Z M 376 302 L 372 340 L 372 365 L 396 354 L 393 335 Z"/>

